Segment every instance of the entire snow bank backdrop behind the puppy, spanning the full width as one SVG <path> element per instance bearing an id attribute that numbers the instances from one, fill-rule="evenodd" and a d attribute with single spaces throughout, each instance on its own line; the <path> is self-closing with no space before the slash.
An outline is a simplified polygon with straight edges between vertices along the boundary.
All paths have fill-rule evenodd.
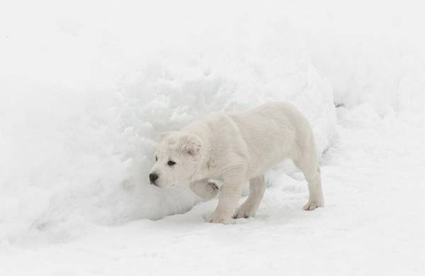
<path id="1" fill-rule="evenodd" d="M 191 209 L 190 191 L 151 187 L 147 172 L 160 132 L 210 112 L 292 101 L 319 154 L 336 137 L 334 101 L 363 106 L 364 121 L 423 125 L 421 9 L 198 2 L 1 9 L 0 243 L 60 241 Z"/>

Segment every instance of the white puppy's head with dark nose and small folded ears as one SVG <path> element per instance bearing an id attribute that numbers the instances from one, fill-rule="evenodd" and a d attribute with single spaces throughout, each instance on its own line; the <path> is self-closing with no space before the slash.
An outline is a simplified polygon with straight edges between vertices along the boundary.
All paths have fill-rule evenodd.
<path id="1" fill-rule="evenodd" d="M 200 162 L 202 140 L 192 133 L 170 131 L 159 136 L 149 182 L 158 187 L 188 186 Z"/>

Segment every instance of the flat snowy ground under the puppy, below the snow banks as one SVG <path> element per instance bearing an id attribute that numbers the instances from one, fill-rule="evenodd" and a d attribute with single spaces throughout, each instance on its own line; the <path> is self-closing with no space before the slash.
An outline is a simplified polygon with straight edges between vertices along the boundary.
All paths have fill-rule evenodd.
<path id="1" fill-rule="evenodd" d="M 338 131 L 322 161 L 324 209 L 302 211 L 306 183 L 280 175 L 253 219 L 204 223 L 213 200 L 77 241 L 11 248 L 2 275 L 422 275 L 424 124 L 366 105 L 339 110 Z"/>

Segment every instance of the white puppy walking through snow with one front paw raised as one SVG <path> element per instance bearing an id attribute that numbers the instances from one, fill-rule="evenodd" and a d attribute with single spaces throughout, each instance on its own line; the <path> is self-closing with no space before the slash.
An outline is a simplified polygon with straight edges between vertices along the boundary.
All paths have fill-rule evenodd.
<path id="1" fill-rule="evenodd" d="M 310 197 L 305 210 L 323 206 L 312 129 L 292 104 L 267 103 L 243 113 L 218 114 L 159 138 L 149 180 L 158 187 L 183 185 L 205 199 L 218 193 L 208 179 L 224 182 L 210 222 L 253 216 L 263 198 L 264 172 L 291 158 L 304 173 Z M 244 184 L 249 197 L 239 206 Z M 237 209 L 237 210 L 236 210 Z M 236 211 L 235 211 L 236 210 Z"/>

